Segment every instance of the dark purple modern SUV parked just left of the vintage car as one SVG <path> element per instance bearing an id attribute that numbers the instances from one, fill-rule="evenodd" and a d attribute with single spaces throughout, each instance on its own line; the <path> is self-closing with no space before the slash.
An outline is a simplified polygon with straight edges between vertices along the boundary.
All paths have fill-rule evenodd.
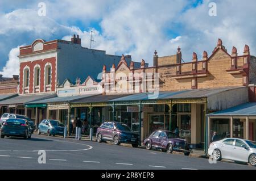
<path id="1" fill-rule="evenodd" d="M 97 129 L 97 141 L 113 141 L 115 145 L 122 143 L 131 144 L 134 148 L 139 145 L 139 134 L 131 132 L 126 124 L 116 122 L 106 122 Z"/>

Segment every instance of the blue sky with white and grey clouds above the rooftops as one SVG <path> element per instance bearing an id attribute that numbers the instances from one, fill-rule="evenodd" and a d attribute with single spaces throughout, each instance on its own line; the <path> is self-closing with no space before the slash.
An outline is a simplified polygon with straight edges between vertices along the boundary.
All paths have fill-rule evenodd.
<path id="1" fill-rule="evenodd" d="M 22 45 L 78 34 L 89 48 L 90 31 L 93 49 L 130 54 L 149 65 L 155 50 L 168 56 L 178 46 L 185 62 L 193 52 L 200 59 L 204 50 L 212 53 L 218 38 L 229 53 L 234 46 L 242 54 L 247 44 L 256 55 L 255 7 L 255 0 L 0 0 L 0 74 L 19 74 Z"/>

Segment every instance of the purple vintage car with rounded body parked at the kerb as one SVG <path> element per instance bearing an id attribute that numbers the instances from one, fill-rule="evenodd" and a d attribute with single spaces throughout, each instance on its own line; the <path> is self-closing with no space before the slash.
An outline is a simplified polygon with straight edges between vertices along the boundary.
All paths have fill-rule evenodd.
<path id="1" fill-rule="evenodd" d="M 181 151 L 185 155 L 189 155 L 192 151 L 192 146 L 186 142 L 186 140 L 179 138 L 179 136 L 170 131 L 155 131 L 150 137 L 143 141 L 143 145 L 147 150 L 152 148 L 161 149 L 172 153 L 172 151 Z"/>

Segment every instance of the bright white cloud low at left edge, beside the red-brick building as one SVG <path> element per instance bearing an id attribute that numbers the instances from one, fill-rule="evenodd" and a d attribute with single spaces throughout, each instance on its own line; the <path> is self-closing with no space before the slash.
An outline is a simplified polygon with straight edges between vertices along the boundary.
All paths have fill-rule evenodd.
<path id="1" fill-rule="evenodd" d="M 10 50 L 9 60 L 0 71 L 4 77 L 13 77 L 13 75 L 19 75 L 19 46 Z"/>

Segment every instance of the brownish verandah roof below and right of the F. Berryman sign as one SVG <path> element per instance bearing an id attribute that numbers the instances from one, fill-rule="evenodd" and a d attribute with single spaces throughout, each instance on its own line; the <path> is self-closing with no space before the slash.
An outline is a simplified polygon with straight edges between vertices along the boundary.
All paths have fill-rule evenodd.
<path id="1" fill-rule="evenodd" d="M 122 98 L 124 96 L 127 96 L 127 94 L 125 95 L 120 95 L 120 94 L 116 94 L 116 95 L 94 95 L 94 96 L 90 96 L 88 98 L 84 98 L 84 99 L 79 99 L 79 100 L 75 100 L 75 101 L 71 101 L 72 103 L 96 103 L 96 102 L 108 102 L 110 100 L 113 99 L 118 99 L 118 98 Z"/>

